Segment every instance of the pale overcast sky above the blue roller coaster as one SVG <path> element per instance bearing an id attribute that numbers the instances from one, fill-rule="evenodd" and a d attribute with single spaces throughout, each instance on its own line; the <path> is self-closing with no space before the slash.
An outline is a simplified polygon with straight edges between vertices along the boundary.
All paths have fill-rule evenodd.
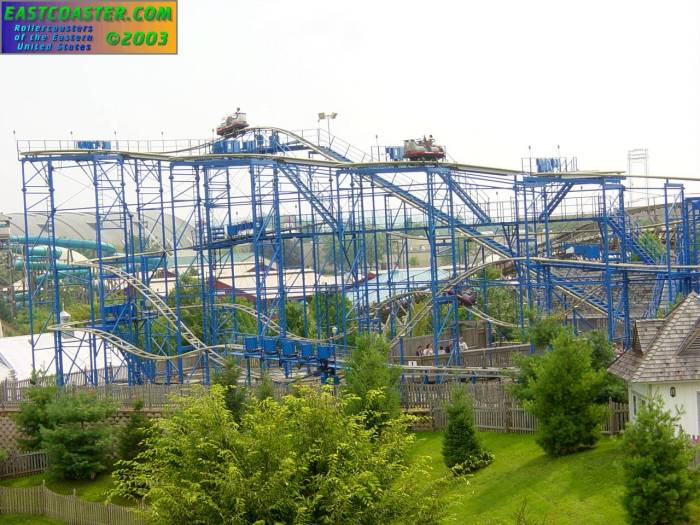
<path id="1" fill-rule="evenodd" d="M 575 4 L 575 5 L 574 5 Z M 177 56 L 0 56 L 0 210 L 21 210 L 18 138 L 204 137 L 316 126 L 361 149 L 432 133 L 505 168 L 577 155 L 698 176 L 700 2 L 180 0 Z M 700 191 L 700 187 L 698 187 Z"/>

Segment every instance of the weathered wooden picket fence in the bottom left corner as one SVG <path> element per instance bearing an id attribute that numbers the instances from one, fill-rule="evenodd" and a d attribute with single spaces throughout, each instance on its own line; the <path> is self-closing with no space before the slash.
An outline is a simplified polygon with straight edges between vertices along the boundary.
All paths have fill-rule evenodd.
<path id="1" fill-rule="evenodd" d="M 28 488 L 0 487 L 0 514 L 30 514 L 63 520 L 71 525 L 145 525 L 133 509 L 111 503 L 92 503 L 56 494 L 45 485 Z"/>

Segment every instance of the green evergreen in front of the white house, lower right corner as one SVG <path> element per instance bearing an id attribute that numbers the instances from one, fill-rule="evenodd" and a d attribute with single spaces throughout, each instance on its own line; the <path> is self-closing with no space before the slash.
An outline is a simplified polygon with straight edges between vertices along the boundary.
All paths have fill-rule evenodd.
<path id="1" fill-rule="evenodd" d="M 623 436 L 624 506 L 632 525 L 687 523 L 699 478 L 688 464 L 695 450 L 679 426 L 680 416 L 653 398 L 637 412 Z"/>

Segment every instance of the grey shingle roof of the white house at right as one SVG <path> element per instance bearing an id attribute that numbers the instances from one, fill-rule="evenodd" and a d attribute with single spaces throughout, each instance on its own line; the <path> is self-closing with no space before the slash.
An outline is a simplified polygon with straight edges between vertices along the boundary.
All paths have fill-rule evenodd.
<path id="1" fill-rule="evenodd" d="M 694 344 L 700 341 L 700 296 L 695 292 L 661 323 L 637 321 L 635 338 L 639 348 L 622 354 L 610 372 L 635 383 L 700 380 L 700 350 Z"/>

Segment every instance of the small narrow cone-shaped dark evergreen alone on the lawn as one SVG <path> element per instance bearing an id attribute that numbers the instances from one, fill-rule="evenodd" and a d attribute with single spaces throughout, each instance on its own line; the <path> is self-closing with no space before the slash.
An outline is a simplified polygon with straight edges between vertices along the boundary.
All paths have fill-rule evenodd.
<path id="1" fill-rule="evenodd" d="M 461 388 L 452 391 L 452 400 L 447 406 L 442 459 L 455 474 L 474 472 L 493 461 L 493 454 L 482 448 L 476 434 L 471 398 Z"/>

